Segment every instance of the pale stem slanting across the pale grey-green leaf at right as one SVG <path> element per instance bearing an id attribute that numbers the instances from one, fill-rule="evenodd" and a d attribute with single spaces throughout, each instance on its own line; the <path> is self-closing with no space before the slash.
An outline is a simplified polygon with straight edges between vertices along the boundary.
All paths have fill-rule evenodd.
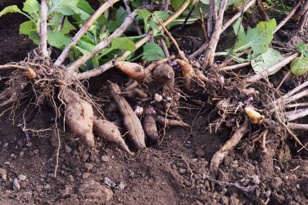
<path id="1" fill-rule="evenodd" d="M 271 72 L 275 72 L 280 70 L 283 66 L 289 64 L 290 62 L 292 62 L 297 56 L 299 56 L 300 53 L 296 52 L 293 55 L 285 58 L 284 60 L 280 61 L 279 63 L 277 63 L 276 65 L 273 65 L 272 67 L 267 68 L 266 70 L 263 70 L 260 73 L 257 73 L 251 77 L 249 77 L 247 79 L 247 82 L 254 82 L 257 80 L 260 80 L 262 78 L 265 78 L 268 76 L 269 73 Z"/>

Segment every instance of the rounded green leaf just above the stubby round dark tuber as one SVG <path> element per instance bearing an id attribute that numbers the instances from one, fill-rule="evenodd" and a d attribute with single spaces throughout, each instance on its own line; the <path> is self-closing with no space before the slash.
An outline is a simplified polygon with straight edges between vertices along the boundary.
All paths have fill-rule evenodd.
<path id="1" fill-rule="evenodd" d="M 148 62 L 165 58 L 165 53 L 156 43 L 150 42 L 143 46 L 142 60 Z"/>

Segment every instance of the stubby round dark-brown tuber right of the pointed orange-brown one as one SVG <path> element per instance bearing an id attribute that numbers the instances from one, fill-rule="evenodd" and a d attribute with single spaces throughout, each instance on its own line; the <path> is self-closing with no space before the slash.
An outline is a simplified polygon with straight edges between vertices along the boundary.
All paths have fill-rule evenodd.
<path id="1" fill-rule="evenodd" d="M 153 78 L 159 87 L 163 87 L 167 84 L 173 84 L 174 70 L 168 64 L 160 64 L 153 70 Z"/>

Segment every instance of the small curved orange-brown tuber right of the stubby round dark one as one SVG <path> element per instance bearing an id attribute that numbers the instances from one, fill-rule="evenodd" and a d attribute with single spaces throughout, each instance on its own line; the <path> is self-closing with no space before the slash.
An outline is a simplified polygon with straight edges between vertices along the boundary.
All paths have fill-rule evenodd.
<path id="1" fill-rule="evenodd" d="M 177 62 L 180 64 L 182 69 L 182 75 L 184 77 L 184 88 L 189 92 L 193 92 L 196 88 L 196 83 L 193 80 L 193 77 L 195 76 L 194 69 L 184 60 L 177 59 Z"/>

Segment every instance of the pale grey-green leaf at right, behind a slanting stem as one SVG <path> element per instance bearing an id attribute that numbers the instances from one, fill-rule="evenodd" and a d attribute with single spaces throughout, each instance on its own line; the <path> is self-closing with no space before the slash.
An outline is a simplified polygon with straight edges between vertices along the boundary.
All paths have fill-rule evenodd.
<path id="1" fill-rule="evenodd" d="M 255 72 L 259 73 L 269 67 L 272 67 L 273 65 L 276 65 L 283 59 L 284 57 L 282 57 L 278 51 L 273 48 L 269 48 L 265 53 L 260 54 L 257 58 L 253 59 L 251 61 L 251 66 Z M 271 72 L 269 75 L 275 74 L 276 72 Z"/>

